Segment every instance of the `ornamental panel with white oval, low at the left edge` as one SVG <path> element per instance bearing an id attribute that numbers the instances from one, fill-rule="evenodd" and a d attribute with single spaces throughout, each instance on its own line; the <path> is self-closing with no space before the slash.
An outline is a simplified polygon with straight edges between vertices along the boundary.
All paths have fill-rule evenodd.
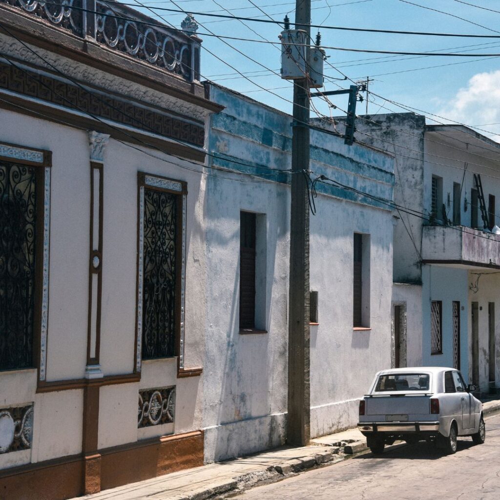
<path id="1" fill-rule="evenodd" d="M 0 454 L 29 449 L 33 434 L 33 403 L 0 408 Z"/>

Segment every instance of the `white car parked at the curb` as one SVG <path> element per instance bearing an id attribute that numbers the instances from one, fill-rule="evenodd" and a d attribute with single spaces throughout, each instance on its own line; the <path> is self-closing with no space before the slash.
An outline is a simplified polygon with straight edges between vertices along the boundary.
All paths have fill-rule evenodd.
<path id="1" fill-rule="evenodd" d="M 457 436 L 484 442 L 482 403 L 454 368 L 418 366 L 379 371 L 359 401 L 358 428 L 373 453 L 396 439 L 433 441 L 448 453 Z"/>

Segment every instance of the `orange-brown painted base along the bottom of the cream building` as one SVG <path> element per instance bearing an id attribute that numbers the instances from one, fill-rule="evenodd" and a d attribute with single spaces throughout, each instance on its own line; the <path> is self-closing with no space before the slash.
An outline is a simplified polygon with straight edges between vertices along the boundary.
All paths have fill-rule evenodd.
<path id="1" fill-rule="evenodd" d="M 144 439 L 1 470 L 0 500 L 65 500 L 202 464 L 202 430 Z"/>

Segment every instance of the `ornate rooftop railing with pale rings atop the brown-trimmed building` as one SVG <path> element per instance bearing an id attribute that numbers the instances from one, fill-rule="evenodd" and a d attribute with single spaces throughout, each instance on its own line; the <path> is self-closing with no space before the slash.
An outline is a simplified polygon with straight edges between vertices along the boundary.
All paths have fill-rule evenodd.
<path id="1" fill-rule="evenodd" d="M 93 38 L 112 50 L 199 80 L 199 38 L 187 17 L 183 31 L 161 26 L 136 10 L 101 0 L 0 0 L 81 38 Z M 189 22 L 189 20 L 191 22 Z M 184 21 L 185 22 L 185 21 Z"/>

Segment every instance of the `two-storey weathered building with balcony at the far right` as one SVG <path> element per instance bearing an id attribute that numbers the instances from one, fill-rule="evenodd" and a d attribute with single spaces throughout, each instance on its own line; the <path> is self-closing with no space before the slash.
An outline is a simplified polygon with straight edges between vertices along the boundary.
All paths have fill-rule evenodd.
<path id="1" fill-rule="evenodd" d="M 495 391 L 500 144 L 414 113 L 358 122 L 358 140 L 395 154 L 393 325 L 405 364 L 454 366 L 479 392 Z"/>

